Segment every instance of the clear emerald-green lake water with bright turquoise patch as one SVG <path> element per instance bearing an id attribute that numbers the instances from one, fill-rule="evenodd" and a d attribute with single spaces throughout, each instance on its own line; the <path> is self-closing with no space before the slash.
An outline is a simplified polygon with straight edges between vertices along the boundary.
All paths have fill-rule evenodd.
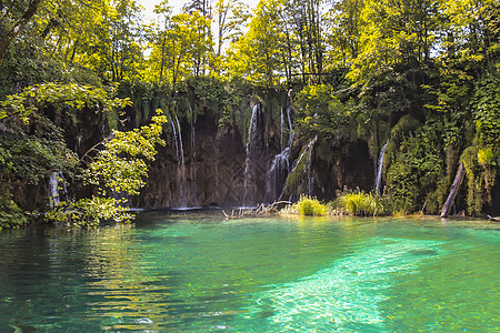
<path id="1" fill-rule="evenodd" d="M 498 332 L 481 221 L 144 214 L 0 233 L 0 332 Z"/>

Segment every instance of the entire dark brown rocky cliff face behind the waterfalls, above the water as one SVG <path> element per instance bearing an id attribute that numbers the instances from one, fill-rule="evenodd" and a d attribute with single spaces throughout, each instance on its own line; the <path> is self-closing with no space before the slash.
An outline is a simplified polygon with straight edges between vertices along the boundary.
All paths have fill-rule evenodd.
<path id="1" fill-rule="evenodd" d="M 280 198 L 294 200 L 301 193 L 330 200 L 343 186 L 370 190 L 373 185 L 373 161 L 366 142 L 334 148 L 319 140 L 310 152 L 309 170 L 296 175 L 299 178 L 296 186 L 283 193 L 284 180 L 298 163 L 301 147 L 294 143 L 297 147 L 287 155 L 288 170 L 277 179 L 270 169 L 276 157 L 282 153 L 276 144 L 280 141 L 276 140 L 279 125 L 270 121 L 270 110 L 258 105 L 253 112 L 246 133 L 232 124 L 219 127 L 217 117 L 209 112 L 198 115 L 192 124 L 180 120 L 180 131 L 177 125 L 171 127 L 167 147 L 160 149 L 136 204 L 143 208 L 252 206 Z M 177 119 L 172 122 L 177 124 Z M 179 155 L 181 147 L 182 157 Z M 322 153 L 324 147 L 329 157 Z"/>

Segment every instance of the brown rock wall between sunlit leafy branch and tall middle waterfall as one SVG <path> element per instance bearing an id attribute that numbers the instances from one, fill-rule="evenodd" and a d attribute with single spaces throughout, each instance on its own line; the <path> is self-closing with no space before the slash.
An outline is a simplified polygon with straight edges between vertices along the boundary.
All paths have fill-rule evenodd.
<path id="1" fill-rule="evenodd" d="M 246 159 L 241 133 L 233 127 L 218 127 L 217 120 L 210 115 L 199 115 L 194 131 L 189 124 L 180 124 L 183 164 L 179 161 L 171 134 L 150 170 L 140 205 L 241 204 Z"/>

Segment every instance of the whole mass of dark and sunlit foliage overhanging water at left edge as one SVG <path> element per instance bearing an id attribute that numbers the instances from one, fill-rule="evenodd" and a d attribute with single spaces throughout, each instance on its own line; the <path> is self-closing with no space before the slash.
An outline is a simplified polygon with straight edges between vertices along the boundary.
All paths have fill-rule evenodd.
<path id="1" fill-rule="evenodd" d="M 128 209 L 120 206 L 123 200 L 109 198 L 109 194 L 133 195 L 144 185 L 146 161 L 154 159 L 157 144 L 164 144 L 160 135 L 167 119 L 161 110 L 149 125 L 129 132 L 113 131 L 110 138 L 82 157 L 82 163 L 68 149 L 64 130 L 47 114 L 50 109 L 60 114 L 58 117 L 71 119 L 76 112 L 106 113 L 130 104 L 128 99 L 112 99 L 111 93 L 73 83 L 46 83 L 29 87 L 0 101 L 0 179 L 1 190 L 8 195 L 2 199 L 4 216 L 18 216 L 22 211 L 18 202 L 12 201 L 12 193 L 22 192 L 28 185 L 40 188 L 44 179 L 59 171 L 97 186 L 97 195 L 60 202 L 46 214 L 49 221 L 96 225 L 104 220 L 120 222 L 132 218 Z M 98 150 L 98 147 L 102 149 Z M 78 164 L 83 168 L 77 168 Z M 2 219 L 2 226 L 16 226 L 23 221 L 6 222 Z"/>

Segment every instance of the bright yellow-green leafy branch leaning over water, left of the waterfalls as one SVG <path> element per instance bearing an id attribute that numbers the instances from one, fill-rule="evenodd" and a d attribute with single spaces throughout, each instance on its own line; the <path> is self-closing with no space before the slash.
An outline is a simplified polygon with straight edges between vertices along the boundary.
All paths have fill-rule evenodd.
<path id="1" fill-rule="evenodd" d="M 63 222 L 68 225 L 96 226 L 101 222 L 130 222 L 133 215 L 122 206 L 127 199 L 107 198 L 107 191 L 114 193 L 139 194 L 146 184 L 148 164 L 154 160 L 156 145 L 164 145 L 160 138 L 167 118 L 161 110 L 151 119 L 149 125 L 128 132 L 113 131 L 112 138 L 106 140 L 104 148 L 98 151 L 92 162 L 84 170 L 88 184 L 98 186 L 99 196 L 61 202 L 47 214 L 51 222 Z"/>

